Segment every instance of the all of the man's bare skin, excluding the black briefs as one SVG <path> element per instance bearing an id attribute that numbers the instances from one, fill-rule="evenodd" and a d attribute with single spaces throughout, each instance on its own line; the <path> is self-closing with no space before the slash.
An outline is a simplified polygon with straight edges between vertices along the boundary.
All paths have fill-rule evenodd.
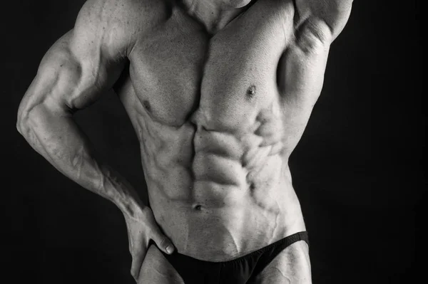
<path id="1" fill-rule="evenodd" d="M 288 158 L 351 6 L 88 0 L 41 61 L 17 128 L 58 171 L 123 212 L 138 283 L 183 283 L 161 251 L 228 261 L 305 231 Z M 111 88 L 141 142 L 151 208 L 73 120 Z M 252 281 L 311 283 L 307 244 L 286 248 Z"/>

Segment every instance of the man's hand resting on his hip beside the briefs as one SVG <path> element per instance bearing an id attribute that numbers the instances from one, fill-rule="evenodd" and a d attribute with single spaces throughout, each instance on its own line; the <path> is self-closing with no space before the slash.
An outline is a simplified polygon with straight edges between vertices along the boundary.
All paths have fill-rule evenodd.
<path id="1" fill-rule="evenodd" d="M 131 275 L 138 281 L 140 268 L 146 257 L 148 243 L 153 240 L 161 251 L 173 253 L 173 243 L 167 238 L 156 223 L 153 211 L 147 206 L 133 216 L 125 214 L 126 227 L 128 228 L 129 251 L 132 256 Z"/>

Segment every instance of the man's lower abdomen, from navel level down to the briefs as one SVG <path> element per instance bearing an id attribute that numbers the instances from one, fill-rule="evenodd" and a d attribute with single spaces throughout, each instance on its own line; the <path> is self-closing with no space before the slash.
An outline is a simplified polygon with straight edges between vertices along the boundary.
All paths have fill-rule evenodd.
<path id="1" fill-rule="evenodd" d="M 292 188 L 271 190 L 263 202 L 250 192 L 223 196 L 215 206 L 151 192 L 149 189 L 156 221 L 178 253 L 203 261 L 228 261 L 305 231 Z"/>

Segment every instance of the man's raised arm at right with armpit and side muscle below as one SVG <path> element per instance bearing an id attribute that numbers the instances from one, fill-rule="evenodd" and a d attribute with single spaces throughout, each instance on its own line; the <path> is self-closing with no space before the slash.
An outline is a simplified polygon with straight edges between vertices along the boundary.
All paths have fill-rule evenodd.
<path id="1" fill-rule="evenodd" d="M 324 82 L 330 45 L 347 23 L 352 0 L 295 0 L 295 40 L 285 51 L 280 91 L 291 154 L 307 125 Z"/>

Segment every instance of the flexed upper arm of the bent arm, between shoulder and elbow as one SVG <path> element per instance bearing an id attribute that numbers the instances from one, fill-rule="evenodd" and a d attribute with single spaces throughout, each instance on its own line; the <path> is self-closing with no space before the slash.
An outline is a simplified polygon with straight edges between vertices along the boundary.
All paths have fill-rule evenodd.
<path id="1" fill-rule="evenodd" d="M 121 46 L 106 41 L 111 40 L 111 31 L 103 19 L 91 15 L 95 9 L 85 4 L 74 28 L 46 52 L 21 112 L 41 103 L 53 111 L 78 110 L 91 105 L 116 82 L 126 56 Z"/>

